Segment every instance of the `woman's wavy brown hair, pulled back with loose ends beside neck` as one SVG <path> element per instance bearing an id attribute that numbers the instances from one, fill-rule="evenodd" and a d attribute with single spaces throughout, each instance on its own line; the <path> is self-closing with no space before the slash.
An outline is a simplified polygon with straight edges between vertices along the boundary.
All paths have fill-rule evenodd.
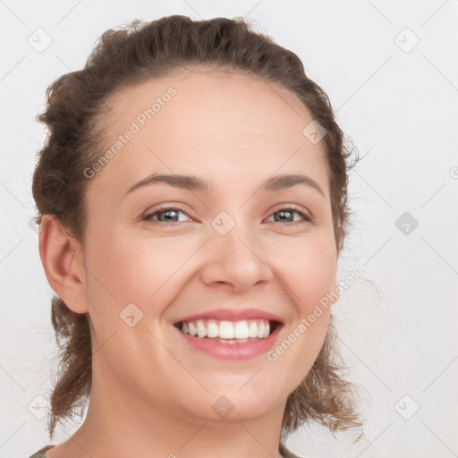
<path id="1" fill-rule="evenodd" d="M 300 58 L 276 45 L 272 38 L 251 30 L 240 18 L 191 21 L 175 15 L 106 30 L 83 70 L 66 73 L 52 83 L 47 89 L 46 110 L 37 117 L 49 131 L 33 175 L 38 224 L 41 216 L 54 215 L 70 236 L 84 244 L 88 218 L 85 191 L 89 180 L 83 171 L 104 150 L 103 121 L 109 109 L 106 101 L 127 86 L 198 64 L 246 72 L 289 89 L 326 129 L 322 141 L 327 155 L 335 243 L 340 254 L 350 215 L 347 171 L 352 166 L 347 161 L 351 151 L 345 146 L 344 133 L 335 122 L 327 94 L 306 76 Z M 50 399 L 50 437 L 57 421 L 72 416 L 79 407 L 82 410 L 90 395 L 92 375 L 89 314 L 75 313 L 53 296 L 52 323 L 60 349 L 60 368 Z M 340 369 L 331 316 L 317 360 L 288 397 L 284 435 L 310 420 L 333 431 L 361 426 L 354 386 L 340 377 Z"/>

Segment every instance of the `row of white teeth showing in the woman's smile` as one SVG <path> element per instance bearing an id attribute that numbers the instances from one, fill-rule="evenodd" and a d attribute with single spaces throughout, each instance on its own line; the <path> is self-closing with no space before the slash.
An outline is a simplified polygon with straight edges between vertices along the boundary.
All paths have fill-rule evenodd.
<path id="1" fill-rule="evenodd" d="M 198 319 L 182 322 L 183 334 L 213 338 L 225 343 L 244 343 L 255 339 L 265 339 L 270 334 L 267 319 L 248 319 L 237 322 L 216 319 Z"/>

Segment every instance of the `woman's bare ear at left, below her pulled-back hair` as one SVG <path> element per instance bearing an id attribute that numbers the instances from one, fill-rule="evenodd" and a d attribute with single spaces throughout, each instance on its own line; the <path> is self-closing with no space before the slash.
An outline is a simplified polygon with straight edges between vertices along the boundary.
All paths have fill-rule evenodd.
<path id="1" fill-rule="evenodd" d="M 89 311 L 85 299 L 85 269 L 81 243 L 65 232 L 54 215 L 41 218 L 38 250 L 47 281 L 68 308 Z"/>

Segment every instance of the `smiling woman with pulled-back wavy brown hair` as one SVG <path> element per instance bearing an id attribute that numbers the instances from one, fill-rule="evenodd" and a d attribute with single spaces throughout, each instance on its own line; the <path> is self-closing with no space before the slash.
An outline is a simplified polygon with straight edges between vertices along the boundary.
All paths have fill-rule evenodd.
<path id="1" fill-rule="evenodd" d="M 300 59 L 242 20 L 107 30 L 48 89 L 33 177 L 57 294 L 48 458 L 295 456 L 360 426 L 331 309 L 350 153 Z"/>

